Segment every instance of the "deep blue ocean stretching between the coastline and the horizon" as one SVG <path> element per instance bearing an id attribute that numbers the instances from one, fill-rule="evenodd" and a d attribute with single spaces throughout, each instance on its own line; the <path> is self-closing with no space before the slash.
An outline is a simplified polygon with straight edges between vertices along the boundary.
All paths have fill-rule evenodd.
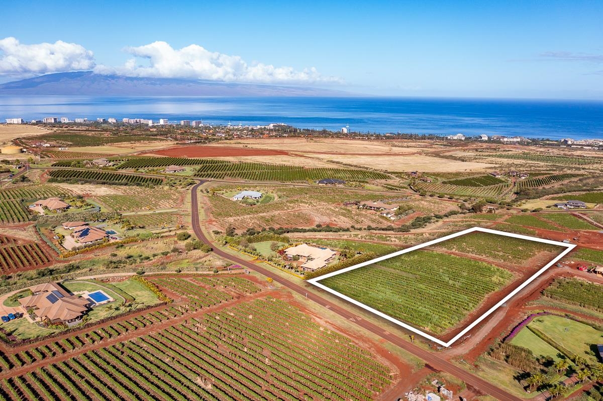
<path id="1" fill-rule="evenodd" d="M 22 117 L 203 120 L 351 131 L 602 138 L 603 101 L 452 98 L 220 98 L 0 95 L 0 121 Z"/>

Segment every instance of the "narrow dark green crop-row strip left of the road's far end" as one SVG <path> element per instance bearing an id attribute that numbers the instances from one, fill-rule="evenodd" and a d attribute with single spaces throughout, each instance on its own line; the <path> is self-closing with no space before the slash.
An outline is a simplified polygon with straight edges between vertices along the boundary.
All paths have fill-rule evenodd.
<path id="1" fill-rule="evenodd" d="M 159 185 L 163 181 L 161 178 L 97 170 L 51 170 L 48 174 L 56 181 L 92 182 L 95 184 Z"/>

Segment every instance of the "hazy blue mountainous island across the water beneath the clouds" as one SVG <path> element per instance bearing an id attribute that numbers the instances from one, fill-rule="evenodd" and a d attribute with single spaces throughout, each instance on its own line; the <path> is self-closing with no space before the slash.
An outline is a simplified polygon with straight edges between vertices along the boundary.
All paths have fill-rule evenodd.
<path id="1" fill-rule="evenodd" d="M 0 84 L 0 95 L 85 96 L 350 96 L 348 92 L 305 86 L 192 81 L 61 72 Z"/>

